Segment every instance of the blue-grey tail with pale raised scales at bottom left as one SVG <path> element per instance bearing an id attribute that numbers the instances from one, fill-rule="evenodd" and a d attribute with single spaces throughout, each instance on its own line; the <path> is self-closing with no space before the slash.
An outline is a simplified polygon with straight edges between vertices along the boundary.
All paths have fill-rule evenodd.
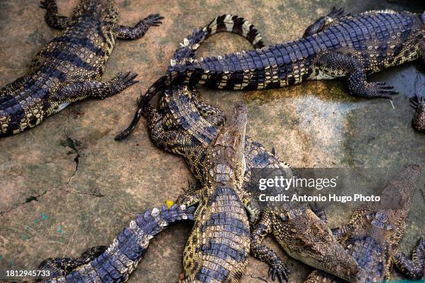
<path id="1" fill-rule="evenodd" d="M 87 259 L 83 258 L 83 254 L 77 259 L 67 258 L 67 266 L 72 265 L 72 261 L 84 262 L 84 264 L 80 264 L 72 270 L 63 268 L 60 275 L 57 272 L 53 273 L 53 276 L 58 276 L 43 280 L 43 282 L 126 282 L 146 252 L 149 241 L 156 234 L 165 230 L 169 223 L 182 219 L 193 220 L 193 212 L 194 207 L 185 209 L 185 207 L 178 207 L 174 204 L 170 207 L 164 205 L 161 209 L 154 208 L 152 212 L 148 210 L 144 214 L 138 214 L 134 220 L 130 221 L 128 227 L 118 234 L 110 246 L 103 248 L 103 252 L 99 256 Z M 63 262 L 63 259 L 47 259 L 43 261 L 40 268 L 52 269 L 58 262 Z M 56 268 L 57 270 L 58 268 Z"/>

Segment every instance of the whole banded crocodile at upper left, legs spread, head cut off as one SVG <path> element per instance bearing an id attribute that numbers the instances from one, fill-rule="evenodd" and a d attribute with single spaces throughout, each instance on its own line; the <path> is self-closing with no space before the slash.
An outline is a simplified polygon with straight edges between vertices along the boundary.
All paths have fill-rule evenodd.
<path id="1" fill-rule="evenodd" d="M 81 0 L 72 17 L 58 15 L 55 0 L 40 7 L 47 24 L 62 31 L 35 55 L 29 74 L 0 89 L 0 137 L 33 128 L 69 103 L 103 99 L 137 83 L 131 72 L 99 79 L 117 38 L 138 39 L 163 19 L 149 15 L 134 27 L 121 26 L 113 0 Z"/>

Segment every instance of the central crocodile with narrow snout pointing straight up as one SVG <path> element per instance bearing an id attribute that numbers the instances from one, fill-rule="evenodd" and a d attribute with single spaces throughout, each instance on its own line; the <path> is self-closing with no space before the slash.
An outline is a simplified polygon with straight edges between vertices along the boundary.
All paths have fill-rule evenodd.
<path id="1" fill-rule="evenodd" d="M 203 161 L 204 183 L 199 190 L 195 221 L 183 252 L 180 282 L 238 282 L 247 266 L 251 246 L 244 142 L 247 108 L 233 114 L 208 147 Z M 186 198 L 186 196 L 183 196 Z"/>

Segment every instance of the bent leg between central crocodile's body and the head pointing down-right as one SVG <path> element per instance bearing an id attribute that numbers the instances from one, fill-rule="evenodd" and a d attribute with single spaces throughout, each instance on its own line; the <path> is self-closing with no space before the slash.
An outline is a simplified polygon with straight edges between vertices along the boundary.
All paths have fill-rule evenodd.
<path id="1" fill-rule="evenodd" d="M 270 233 L 272 233 L 272 220 L 267 212 L 263 212 L 260 216 L 260 221 L 251 232 L 251 255 L 269 265 L 269 276 L 272 277 L 273 281 L 276 277 L 278 277 L 279 282 L 288 281 L 288 275 L 290 274 L 288 267 L 274 250 L 261 244 L 267 234 Z"/>

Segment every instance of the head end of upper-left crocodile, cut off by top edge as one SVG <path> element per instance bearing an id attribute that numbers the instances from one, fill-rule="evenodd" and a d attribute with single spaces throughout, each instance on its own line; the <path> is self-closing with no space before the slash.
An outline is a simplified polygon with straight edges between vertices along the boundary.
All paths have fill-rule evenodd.
<path id="1" fill-rule="evenodd" d="M 103 22 L 118 22 L 119 12 L 115 0 L 81 0 L 74 9 L 74 17 L 91 16 Z"/>

